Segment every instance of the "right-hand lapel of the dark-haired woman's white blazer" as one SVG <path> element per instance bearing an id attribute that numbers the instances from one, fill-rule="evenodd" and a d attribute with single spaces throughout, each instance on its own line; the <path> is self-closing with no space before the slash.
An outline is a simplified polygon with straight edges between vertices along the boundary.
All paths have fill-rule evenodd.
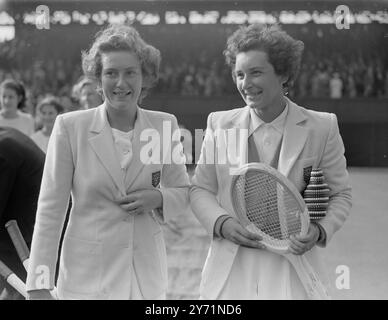
<path id="1" fill-rule="evenodd" d="M 283 142 L 279 156 L 278 170 L 286 177 L 290 173 L 307 139 L 303 122 L 307 119 L 299 107 L 288 100 L 288 115 L 284 126 Z"/>

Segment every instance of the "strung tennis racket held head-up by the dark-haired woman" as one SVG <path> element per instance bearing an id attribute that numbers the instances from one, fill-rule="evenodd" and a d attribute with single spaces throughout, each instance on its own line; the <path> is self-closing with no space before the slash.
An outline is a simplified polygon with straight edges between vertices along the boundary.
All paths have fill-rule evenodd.
<path id="1" fill-rule="evenodd" d="M 294 266 L 309 299 L 330 296 L 304 255 L 289 252 L 291 235 L 306 235 L 310 218 L 303 198 L 280 172 L 263 163 L 249 163 L 234 172 L 234 211 L 241 224 L 259 234 L 266 248 L 285 256 Z"/>

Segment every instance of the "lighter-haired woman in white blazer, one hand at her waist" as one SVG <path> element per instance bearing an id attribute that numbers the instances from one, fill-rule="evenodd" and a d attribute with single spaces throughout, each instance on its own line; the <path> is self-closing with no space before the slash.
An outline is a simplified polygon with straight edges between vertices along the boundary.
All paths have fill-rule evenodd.
<path id="1" fill-rule="evenodd" d="M 159 63 L 160 52 L 127 26 L 106 28 L 83 53 L 84 72 L 104 103 L 55 122 L 29 261 L 30 299 L 51 297 L 70 195 L 58 298 L 165 298 L 160 224 L 184 211 L 189 179 L 176 118 L 138 106 Z"/>

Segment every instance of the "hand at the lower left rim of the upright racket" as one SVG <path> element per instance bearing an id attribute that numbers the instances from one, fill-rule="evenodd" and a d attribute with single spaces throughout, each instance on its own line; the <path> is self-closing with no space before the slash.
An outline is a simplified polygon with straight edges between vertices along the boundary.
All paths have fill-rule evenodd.
<path id="1" fill-rule="evenodd" d="M 222 224 L 221 234 L 225 239 L 240 246 L 265 249 L 265 245 L 259 242 L 263 240 L 263 238 L 258 234 L 249 232 L 234 218 L 228 219 Z"/>

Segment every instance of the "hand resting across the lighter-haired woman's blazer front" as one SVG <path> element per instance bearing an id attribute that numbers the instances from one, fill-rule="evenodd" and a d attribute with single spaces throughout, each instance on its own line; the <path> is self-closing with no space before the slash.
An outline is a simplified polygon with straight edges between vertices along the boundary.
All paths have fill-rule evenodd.
<path id="1" fill-rule="evenodd" d="M 138 190 L 117 199 L 120 207 L 130 215 L 138 215 L 159 208 L 163 204 L 162 193 L 158 190 Z"/>

